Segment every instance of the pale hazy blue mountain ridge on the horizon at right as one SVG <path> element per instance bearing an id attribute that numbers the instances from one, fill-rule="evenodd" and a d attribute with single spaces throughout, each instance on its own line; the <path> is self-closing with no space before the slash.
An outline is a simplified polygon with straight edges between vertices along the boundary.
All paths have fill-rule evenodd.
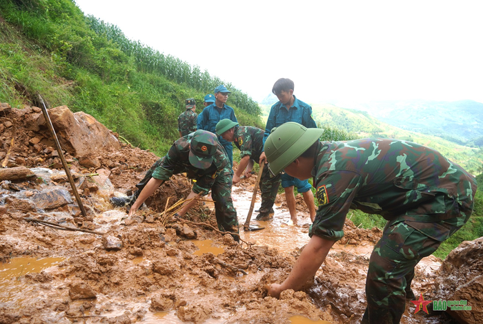
<path id="1" fill-rule="evenodd" d="M 377 120 L 408 131 L 435 135 L 457 144 L 482 144 L 483 104 L 473 100 L 380 101 L 343 107 L 366 111 Z"/>

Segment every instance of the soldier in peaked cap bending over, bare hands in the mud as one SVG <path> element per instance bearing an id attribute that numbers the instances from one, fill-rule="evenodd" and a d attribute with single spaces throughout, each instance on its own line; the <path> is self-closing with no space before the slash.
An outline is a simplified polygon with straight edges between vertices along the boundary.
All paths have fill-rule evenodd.
<path id="1" fill-rule="evenodd" d="M 196 180 L 186 198 L 190 201 L 183 204 L 177 216 L 184 216 L 193 206 L 195 200 L 191 198 L 198 193 L 205 196 L 211 190 L 219 230 L 238 233 L 237 211 L 231 198 L 233 171 L 223 146 L 215 134 L 208 131 L 200 130 L 179 138 L 172 144 L 168 154 L 151 166 L 144 179 L 136 185 L 137 191 L 132 196 L 113 197 L 110 201 L 117 207 L 132 205 L 129 211 L 129 216 L 132 216 L 175 173 L 186 173 L 188 178 Z M 239 236 L 233 238 L 239 241 Z"/>

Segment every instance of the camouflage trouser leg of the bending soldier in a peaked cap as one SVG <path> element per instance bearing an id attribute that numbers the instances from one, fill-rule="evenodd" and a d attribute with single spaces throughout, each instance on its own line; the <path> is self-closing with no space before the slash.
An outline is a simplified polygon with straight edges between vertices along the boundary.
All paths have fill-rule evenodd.
<path id="1" fill-rule="evenodd" d="M 239 233 L 237 211 L 231 198 L 232 175 L 228 169 L 222 171 L 211 187 L 211 197 L 215 201 L 215 216 L 220 231 Z M 239 241 L 239 236 L 233 236 Z"/>

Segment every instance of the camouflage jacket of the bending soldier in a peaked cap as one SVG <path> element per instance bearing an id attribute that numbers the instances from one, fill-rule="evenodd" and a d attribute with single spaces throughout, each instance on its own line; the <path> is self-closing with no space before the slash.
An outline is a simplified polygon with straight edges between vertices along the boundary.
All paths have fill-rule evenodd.
<path id="1" fill-rule="evenodd" d="M 213 156 L 213 163 L 208 169 L 197 169 L 191 165 L 188 157 L 192 138 L 193 134 L 188 134 L 176 140 L 168 154 L 164 156 L 161 164 L 152 173 L 152 178 L 169 180 L 173 174 L 186 173 L 188 178 L 196 180 L 196 183 L 193 185 L 195 193 L 201 191 L 208 193 L 220 173 L 226 174 L 228 172 L 233 174 L 233 170 L 230 168 L 230 160 L 226 156 L 225 149 L 219 142 L 217 142 L 217 151 Z"/>

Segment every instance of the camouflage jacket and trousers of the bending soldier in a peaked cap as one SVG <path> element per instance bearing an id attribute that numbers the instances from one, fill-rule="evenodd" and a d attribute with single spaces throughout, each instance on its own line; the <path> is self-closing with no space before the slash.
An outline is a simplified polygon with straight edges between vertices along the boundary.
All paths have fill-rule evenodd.
<path id="1" fill-rule="evenodd" d="M 144 179 L 136 185 L 139 189 L 138 192 L 141 192 L 150 178 L 167 181 L 173 174 L 186 173 L 188 178 L 196 180 L 193 185 L 193 192 L 201 192 L 204 196 L 211 189 L 219 230 L 238 233 L 237 211 L 233 207 L 231 198 L 233 170 L 230 169 L 226 151 L 217 142 L 217 151 L 213 156 L 211 166 L 208 169 L 197 169 L 190 164 L 188 159 L 192 138 L 193 133 L 175 141 L 168 154 L 157 160 L 148 170 Z M 237 236 L 235 236 L 235 239 L 237 239 Z"/>

